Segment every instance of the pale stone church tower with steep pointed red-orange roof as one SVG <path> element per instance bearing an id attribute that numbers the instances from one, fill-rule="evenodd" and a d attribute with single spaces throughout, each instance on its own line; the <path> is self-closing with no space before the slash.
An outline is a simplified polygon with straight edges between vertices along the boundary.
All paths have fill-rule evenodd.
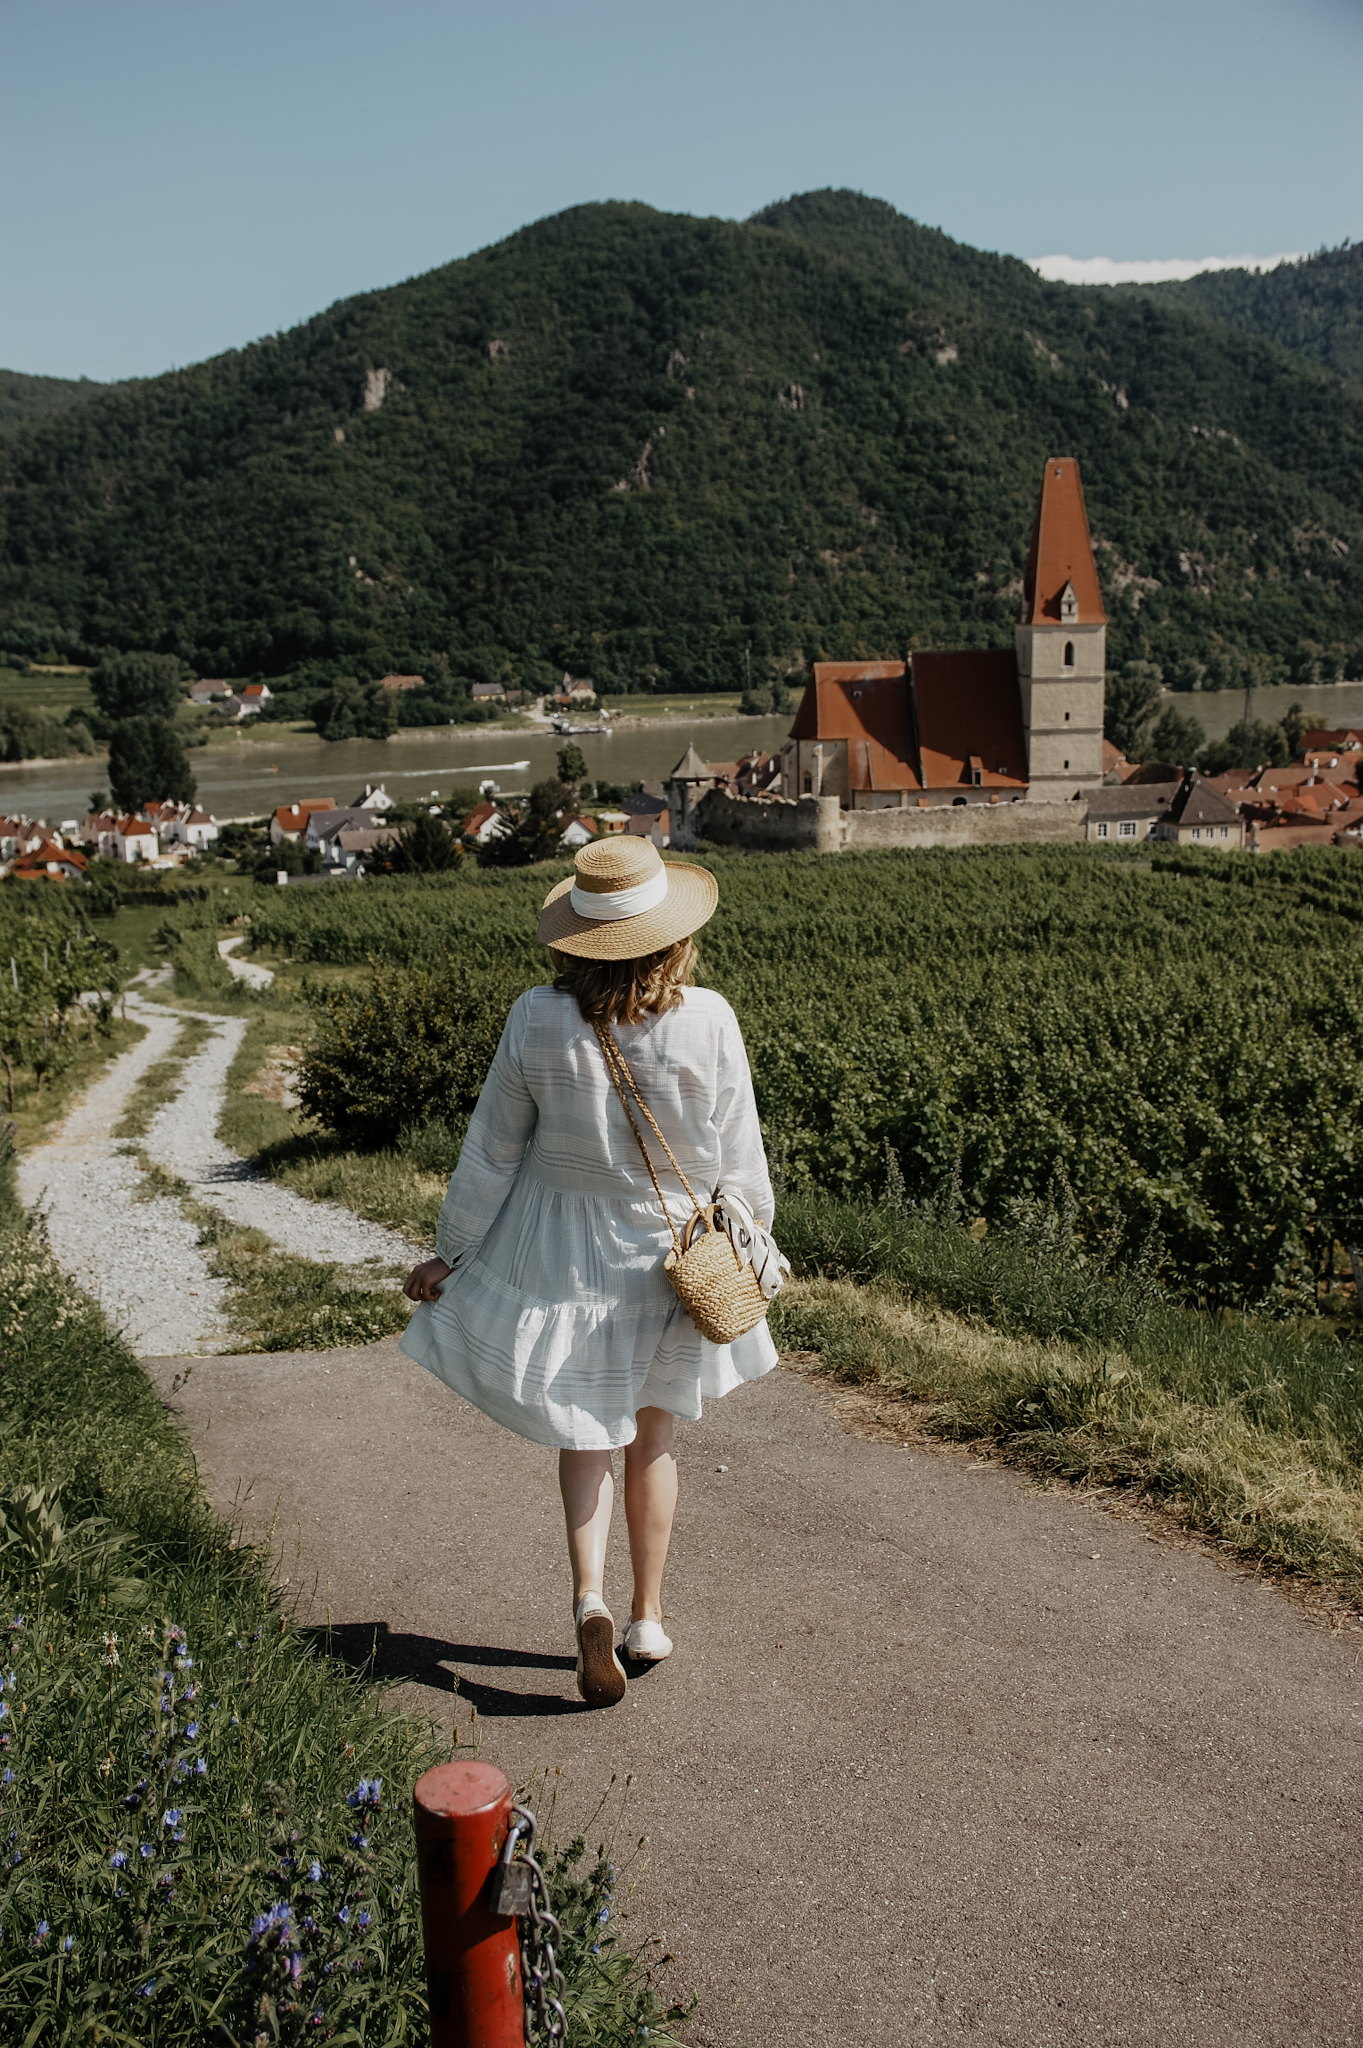
<path id="1" fill-rule="evenodd" d="M 1017 621 L 1027 797 L 1068 799 L 1103 780 L 1107 614 L 1072 455 L 1052 457 L 1031 528 Z"/>

